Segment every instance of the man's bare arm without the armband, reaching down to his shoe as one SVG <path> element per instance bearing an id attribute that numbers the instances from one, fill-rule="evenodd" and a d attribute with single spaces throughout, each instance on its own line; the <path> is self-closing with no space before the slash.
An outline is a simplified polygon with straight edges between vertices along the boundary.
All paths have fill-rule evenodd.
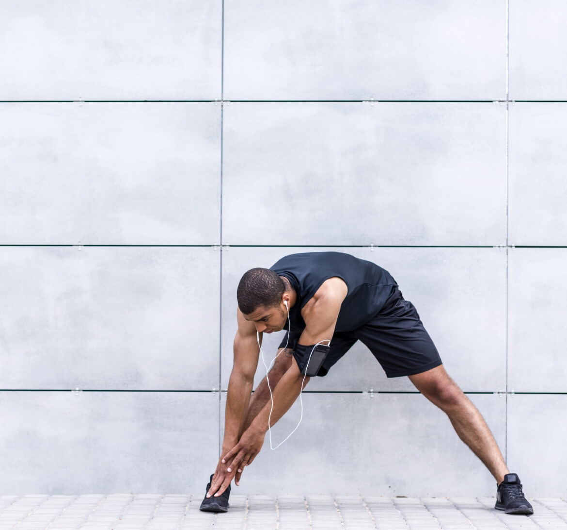
<path id="1" fill-rule="evenodd" d="M 226 395 L 225 436 L 222 442 L 221 455 L 226 454 L 240 440 L 260 352 L 255 325 L 244 319 L 240 310 L 238 310 L 236 318 L 238 329 L 234 337 L 234 364 L 232 365 L 229 389 Z M 234 478 L 235 471 L 233 472 L 232 469 L 228 471 L 225 462 L 219 460 L 208 495 L 213 495 L 219 488 L 224 491 Z M 226 487 L 223 488 L 223 485 Z"/>

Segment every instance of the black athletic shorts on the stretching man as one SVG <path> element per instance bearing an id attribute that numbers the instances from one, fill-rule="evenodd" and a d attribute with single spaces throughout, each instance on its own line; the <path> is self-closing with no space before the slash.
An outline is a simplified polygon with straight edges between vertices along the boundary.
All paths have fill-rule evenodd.
<path id="1" fill-rule="evenodd" d="M 288 348 L 295 348 L 301 333 L 291 332 Z M 404 300 L 396 289 L 387 299 L 378 314 L 354 331 L 335 332 L 331 350 L 317 375 L 327 375 L 348 350 L 360 340 L 382 365 L 387 377 L 401 377 L 426 372 L 442 364 L 428 332 L 421 323 L 420 315 L 411 302 Z M 284 348 L 287 333 L 280 344 Z"/>

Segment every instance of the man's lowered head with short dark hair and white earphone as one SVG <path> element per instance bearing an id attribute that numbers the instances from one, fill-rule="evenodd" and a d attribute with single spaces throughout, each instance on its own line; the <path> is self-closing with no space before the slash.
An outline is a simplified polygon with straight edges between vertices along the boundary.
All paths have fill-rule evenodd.
<path id="1" fill-rule="evenodd" d="M 289 294 L 284 280 L 270 269 L 250 269 L 240 279 L 236 290 L 238 307 L 258 331 L 280 331 L 289 310 Z"/>

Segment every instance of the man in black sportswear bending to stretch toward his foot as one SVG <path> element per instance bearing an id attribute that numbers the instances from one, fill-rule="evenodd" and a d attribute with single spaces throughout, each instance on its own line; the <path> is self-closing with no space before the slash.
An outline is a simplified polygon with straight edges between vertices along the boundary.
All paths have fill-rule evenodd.
<path id="1" fill-rule="evenodd" d="M 238 330 L 230 375 L 221 460 L 207 485 L 203 511 L 227 511 L 230 482 L 239 484 L 270 426 L 301 393 L 310 376 L 328 370 L 362 341 L 388 377 L 407 375 L 443 410 L 460 439 L 496 478 L 498 510 L 532 514 L 518 475 L 510 473 L 480 412 L 448 376 L 411 302 L 390 274 L 369 261 L 339 252 L 286 256 L 270 269 L 251 269 L 240 280 Z M 286 329 L 266 378 L 252 394 L 262 333 Z M 328 341 L 330 345 L 327 347 Z M 287 346 L 287 347 L 286 347 Z M 271 411 L 271 414 L 270 414 Z"/>

